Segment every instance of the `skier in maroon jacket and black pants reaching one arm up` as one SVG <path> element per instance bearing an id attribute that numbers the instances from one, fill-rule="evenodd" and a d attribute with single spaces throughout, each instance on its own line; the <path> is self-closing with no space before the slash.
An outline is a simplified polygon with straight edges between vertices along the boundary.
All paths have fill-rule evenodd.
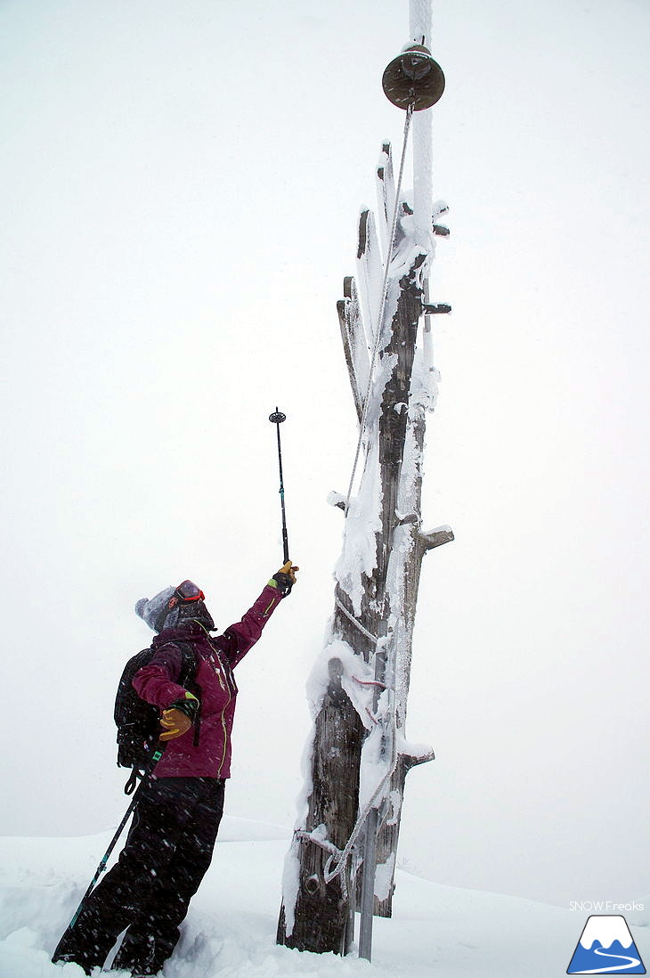
<path id="1" fill-rule="evenodd" d="M 113 968 L 143 978 L 155 975 L 171 955 L 210 865 L 223 814 L 238 691 L 233 669 L 290 593 L 298 569 L 284 563 L 241 621 L 216 638 L 209 635 L 215 625 L 204 595 L 192 581 L 136 604 L 157 635 L 152 659 L 136 673 L 133 688 L 160 709 L 165 750 L 143 785 L 118 862 L 66 929 L 53 961 L 74 961 L 90 974 L 104 964 L 124 928 Z M 178 685 L 182 654 L 174 641 L 192 645 L 199 695 Z"/>

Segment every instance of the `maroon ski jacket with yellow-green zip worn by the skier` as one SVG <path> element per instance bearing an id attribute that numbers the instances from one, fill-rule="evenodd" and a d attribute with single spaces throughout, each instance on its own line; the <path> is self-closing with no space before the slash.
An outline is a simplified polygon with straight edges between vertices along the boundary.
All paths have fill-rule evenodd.
<path id="1" fill-rule="evenodd" d="M 238 692 L 233 669 L 255 645 L 281 600 L 277 588 L 267 585 L 241 621 L 217 638 L 211 638 L 197 622 L 156 635 L 151 661 L 133 678 L 138 695 L 161 710 L 185 698 L 185 689 L 178 685 L 183 658 L 173 644 L 175 640 L 193 646 L 195 683 L 200 689 L 198 744 L 195 746 L 194 727 L 168 740 L 155 767 L 156 778 L 230 778 L 231 733 Z"/>

